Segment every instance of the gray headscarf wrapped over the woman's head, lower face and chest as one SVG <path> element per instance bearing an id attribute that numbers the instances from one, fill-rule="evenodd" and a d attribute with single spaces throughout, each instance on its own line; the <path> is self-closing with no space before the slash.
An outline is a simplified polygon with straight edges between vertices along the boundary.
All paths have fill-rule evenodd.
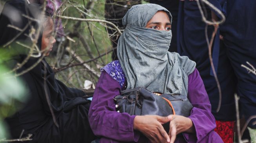
<path id="1" fill-rule="evenodd" d="M 196 63 L 168 52 L 172 33 L 145 28 L 158 11 L 171 13 L 156 4 L 134 5 L 123 17 L 126 28 L 118 41 L 117 53 L 127 79 L 127 89 L 187 95 L 188 75 Z"/>

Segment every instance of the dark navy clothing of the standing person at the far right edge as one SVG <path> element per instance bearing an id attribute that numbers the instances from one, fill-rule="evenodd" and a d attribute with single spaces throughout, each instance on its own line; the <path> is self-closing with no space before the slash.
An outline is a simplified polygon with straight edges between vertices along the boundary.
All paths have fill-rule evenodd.
<path id="1" fill-rule="evenodd" d="M 256 75 L 249 73 L 241 64 L 247 65 L 248 61 L 256 67 L 255 17 L 255 0 L 227 0 L 226 21 L 220 25 L 227 56 L 238 79 L 237 93 L 241 113 L 246 120 L 256 115 Z M 252 119 L 248 126 L 256 129 L 255 121 Z"/>

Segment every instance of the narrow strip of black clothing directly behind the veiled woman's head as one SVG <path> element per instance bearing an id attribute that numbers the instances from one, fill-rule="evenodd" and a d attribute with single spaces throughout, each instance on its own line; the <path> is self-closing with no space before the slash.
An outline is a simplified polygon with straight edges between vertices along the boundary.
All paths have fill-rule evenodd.
<path id="1" fill-rule="evenodd" d="M 165 7 L 172 14 L 172 42 L 169 52 L 177 52 L 177 22 L 180 0 L 149 0 L 151 4 L 158 4 Z"/>

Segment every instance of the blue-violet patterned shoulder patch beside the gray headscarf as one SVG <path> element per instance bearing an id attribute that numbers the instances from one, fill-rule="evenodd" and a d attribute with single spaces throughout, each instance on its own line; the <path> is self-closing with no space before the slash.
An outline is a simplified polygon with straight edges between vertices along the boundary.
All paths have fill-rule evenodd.
<path id="1" fill-rule="evenodd" d="M 123 86 L 125 82 L 125 74 L 118 60 L 110 62 L 100 70 L 106 71 L 108 75 L 110 75 L 114 80 L 119 82 L 121 87 Z"/>

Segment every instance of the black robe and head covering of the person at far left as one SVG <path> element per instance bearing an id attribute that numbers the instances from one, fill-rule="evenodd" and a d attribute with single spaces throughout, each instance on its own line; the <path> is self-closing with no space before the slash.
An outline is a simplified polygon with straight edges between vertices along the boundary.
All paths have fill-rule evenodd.
<path id="1" fill-rule="evenodd" d="M 18 9 L 20 15 L 28 14 L 33 18 L 37 18 L 34 16 L 38 16 L 35 13 L 38 13 L 38 9 L 40 9 L 39 5 L 27 4 L 24 0 L 7 2 L 0 15 L 0 45 L 4 45 L 18 33 L 15 30 L 15 32 L 8 32 L 11 29 L 6 28 L 7 24 L 23 28 L 29 21 L 27 18 L 20 16 L 21 20 L 18 23 L 13 22 L 14 20 L 8 18 L 9 6 Z M 31 26 L 24 33 L 28 34 L 32 25 L 34 28 L 38 27 L 38 23 L 31 22 Z M 31 44 L 24 33 L 17 40 L 24 42 L 25 39 L 27 44 Z M 41 39 L 42 35 L 38 40 L 38 47 L 41 47 Z M 10 46 L 12 48 L 13 45 Z M 15 55 L 5 64 L 15 65 L 26 57 L 21 53 Z M 26 70 L 37 60 L 38 58 L 30 58 L 17 72 Z M 19 138 L 22 129 L 24 129 L 23 137 L 27 134 L 33 134 L 33 140 L 29 141 L 30 143 L 89 143 L 94 139 L 95 136 L 88 122 L 90 101 L 84 98 L 85 94 L 82 90 L 67 88 L 62 82 L 56 80 L 53 70 L 44 59 L 32 70 L 21 75 L 20 78 L 27 87 L 28 100 L 25 102 L 23 109 L 5 119 L 12 138 Z M 49 96 L 50 107 L 53 109 L 59 127 L 53 122 L 46 95 Z"/>

